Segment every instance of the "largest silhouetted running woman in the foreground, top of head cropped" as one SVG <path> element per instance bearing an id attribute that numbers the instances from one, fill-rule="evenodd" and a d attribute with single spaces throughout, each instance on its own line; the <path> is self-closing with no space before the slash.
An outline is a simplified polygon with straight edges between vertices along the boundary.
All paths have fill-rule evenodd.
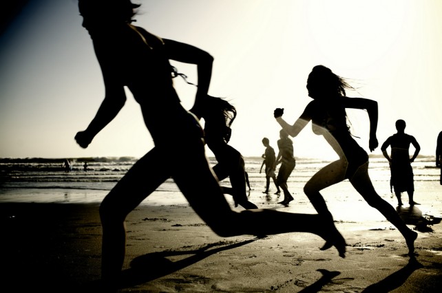
<path id="1" fill-rule="evenodd" d="M 270 209 L 238 213 L 231 209 L 204 153 L 203 131 L 198 122 L 209 90 L 213 57 L 197 47 L 161 39 L 131 25 L 138 7 L 129 0 L 78 1 L 83 27 L 92 38 L 103 74 L 105 97 L 87 128 L 76 133 L 76 142 L 87 148 L 116 117 L 125 104 L 127 87 L 140 105 L 155 144 L 131 166 L 99 208 L 103 290 L 116 292 L 123 281 L 127 215 L 170 177 L 193 210 L 221 237 L 311 232 L 326 240 L 322 250 L 335 246 L 344 257 L 344 238 L 333 221 L 322 215 Z M 169 59 L 197 66 L 193 113 L 182 107 L 173 88 Z"/>

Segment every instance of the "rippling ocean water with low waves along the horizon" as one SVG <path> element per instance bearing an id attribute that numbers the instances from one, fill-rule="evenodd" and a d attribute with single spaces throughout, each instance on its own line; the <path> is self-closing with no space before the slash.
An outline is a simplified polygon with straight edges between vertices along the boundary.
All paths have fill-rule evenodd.
<path id="1" fill-rule="evenodd" d="M 72 169 L 63 169 L 63 159 L 23 158 L 0 159 L 0 202 L 100 202 L 116 182 L 138 160 L 131 157 L 119 158 L 75 158 L 71 159 Z M 264 189 L 265 176 L 260 173 L 262 158 L 246 157 L 246 171 L 253 190 Z M 439 182 L 440 170 L 436 169 L 434 157 L 419 157 L 412 164 L 415 184 L 419 182 Z M 83 170 L 87 162 L 88 170 Z M 215 158 L 209 158 L 213 165 Z M 288 186 L 304 186 L 327 160 L 297 158 L 297 164 Z M 374 184 L 389 186 L 390 167 L 383 157 L 370 157 L 370 177 Z M 229 180 L 221 182 L 229 185 Z M 271 185 L 272 187 L 273 185 Z M 301 187 L 297 188 L 298 191 Z M 299 191 L 302 192 L 302 191 Z M 158 187 L 156 193 L 167 194 L 155 197 L 155 204 L 182 201 L 182 196 L 171 198 L 179 193 L 173 180 L 167 180 Z"/>

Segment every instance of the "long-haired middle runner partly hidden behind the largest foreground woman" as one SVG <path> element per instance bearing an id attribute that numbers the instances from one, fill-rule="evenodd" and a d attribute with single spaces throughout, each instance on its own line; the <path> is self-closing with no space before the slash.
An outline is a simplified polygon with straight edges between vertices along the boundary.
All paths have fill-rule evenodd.
<path id="1" fill-rule="evenodd" d="M 204 140 L 215 155 L 218 164 L 213 166 L 218 181 L 229 177 L 231 188 L 222 187 L 224 193 L 233 195 L 235 207 L 257 208 L 246 194 L 246 170 L 241 153 L 229 145 L 231 125 L 236 118 L 236 109 L 222 98 L 207 96 L 201 111 L 204 118 Z"/>

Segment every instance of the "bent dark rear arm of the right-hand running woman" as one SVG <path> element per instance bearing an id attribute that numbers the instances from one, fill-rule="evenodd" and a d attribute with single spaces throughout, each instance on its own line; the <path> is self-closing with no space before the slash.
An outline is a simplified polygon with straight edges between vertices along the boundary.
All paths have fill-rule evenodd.
<path id="1" fill-rule="evenodd" d="M 366 109 L 370 119 L 370 142 L 368 142 L 370 151 L 375 151 L 379 143 L 376 138 L 377 131 L 377 102 L 366 98 L 347 98 L 344 97 L 344 107 L 354 109 Z"/>

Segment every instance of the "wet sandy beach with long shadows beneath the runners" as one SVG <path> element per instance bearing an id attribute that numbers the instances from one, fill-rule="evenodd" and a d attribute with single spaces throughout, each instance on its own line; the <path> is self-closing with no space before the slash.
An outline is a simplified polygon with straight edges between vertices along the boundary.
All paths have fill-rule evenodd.
<path id="1" fill-rule="evenodd" d="M 260 208 L 315 213 L 302 185 L 290 188 L 295 200 L 287 208 L 258 188 L 250 196 Z M 319 250 L 324 241 L 309 233 L 219 237 L 182 204 L 180 193 L 154 193 L 127 217 L 120 292 L 440 292 L 442 186 L 416 182 L 416 189 L 420 205 L 404 205 L 398 212 L 419 234 L 417 261 L 410 261 L 394 226 L 348 182 L 324 191 L 348 243 L 345 259 L 335 248 Z M 152 204 L 167 196 L 179 204 Z M 397 203 L 387 193 L 383 197 Z M 1 292 L 97 292 L 98 206 L 1 202 Z"/>

